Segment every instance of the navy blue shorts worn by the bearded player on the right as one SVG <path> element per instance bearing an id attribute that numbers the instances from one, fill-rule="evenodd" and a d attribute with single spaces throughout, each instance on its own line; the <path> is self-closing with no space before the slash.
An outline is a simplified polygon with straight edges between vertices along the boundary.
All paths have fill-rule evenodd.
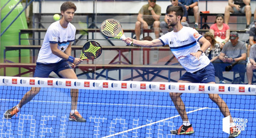
<path id="1" fill-rule="evenodd" d="M 215 70 L 212 63 L 194 73 L 186 72 L 180 77 L 182 81 L 189 81 L 192 83 L 209 83 L 215 82 Z"/>

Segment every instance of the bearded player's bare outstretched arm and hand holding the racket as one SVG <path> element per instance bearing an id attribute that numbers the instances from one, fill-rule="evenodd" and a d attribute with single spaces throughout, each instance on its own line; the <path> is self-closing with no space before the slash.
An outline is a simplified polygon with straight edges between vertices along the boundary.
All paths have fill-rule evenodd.
<path id="1" fill-rule="evenodd" d="M 148 41 L 148 40 L 135 40 L 130 37 L 127 37 L 127 38 L 123 39 L 123 41 L 125 41 L 126 44 L 130 44 L 131 42 L 133 42 L 133 45 L 137 45 L 137 46 L 141 46 L 141 47 L 163 46 L 163 43 L 161 42 L 160 39 L 154 39 L 152 41 Z"/>

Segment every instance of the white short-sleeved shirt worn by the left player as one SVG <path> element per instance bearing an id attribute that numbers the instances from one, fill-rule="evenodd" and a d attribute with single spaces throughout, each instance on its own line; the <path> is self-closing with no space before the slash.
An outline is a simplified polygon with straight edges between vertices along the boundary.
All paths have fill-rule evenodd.
<path id="1" fill-rule="evenodd" d="M 62 58 L 52 54 L 50 43 L 58 44 L 58 49 L 64 52 L 69 43 L 75 40 L 75 33 L 76 28 L 73 24 L 68 23 L 67 28 L 62 28 L 60 21 L 53 22 L 46 31 L 36 62 L 57 63 L 61 61 Z"/>

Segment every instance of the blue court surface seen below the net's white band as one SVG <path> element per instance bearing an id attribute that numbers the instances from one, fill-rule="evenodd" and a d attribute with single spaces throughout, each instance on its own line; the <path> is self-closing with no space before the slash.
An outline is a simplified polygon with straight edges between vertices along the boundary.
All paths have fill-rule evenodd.
<path id="1" fill-rule="evenodd" d="M 87 122 L 77 123 L 68 120 L 69 89 L 42 88 L 17 117 L 5 119 L 4 111 L 30 88 L 0 88 L 0 137 L 228 137 L 222 131 L 223 116 L 207 94 L 182 94 L 195 133 L 180 136 L 170 134 L 182 120 L 166 92 L 79 90 L 78 111 Z M 238 137 L 255 137 L 255 96 L 220 96 L 243 123 Z"/>

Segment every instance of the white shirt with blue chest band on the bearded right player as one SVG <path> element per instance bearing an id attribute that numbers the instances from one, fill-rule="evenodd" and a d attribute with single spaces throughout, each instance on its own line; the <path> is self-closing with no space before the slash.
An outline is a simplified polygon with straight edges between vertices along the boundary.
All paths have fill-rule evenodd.
<path id="1" fill-rule="evenodd" d="M 190 53 L 196 53 L 200 49 L 198 40 L 203 36 L 195 29 L 183 27 L 178 32 L 168 32 L 159 39 L 163 45 L 169 45 L 173 55 L 187 72 L 193 73 L 210 64 L 210 59 L 203 53 L 198 59 Z"/>

